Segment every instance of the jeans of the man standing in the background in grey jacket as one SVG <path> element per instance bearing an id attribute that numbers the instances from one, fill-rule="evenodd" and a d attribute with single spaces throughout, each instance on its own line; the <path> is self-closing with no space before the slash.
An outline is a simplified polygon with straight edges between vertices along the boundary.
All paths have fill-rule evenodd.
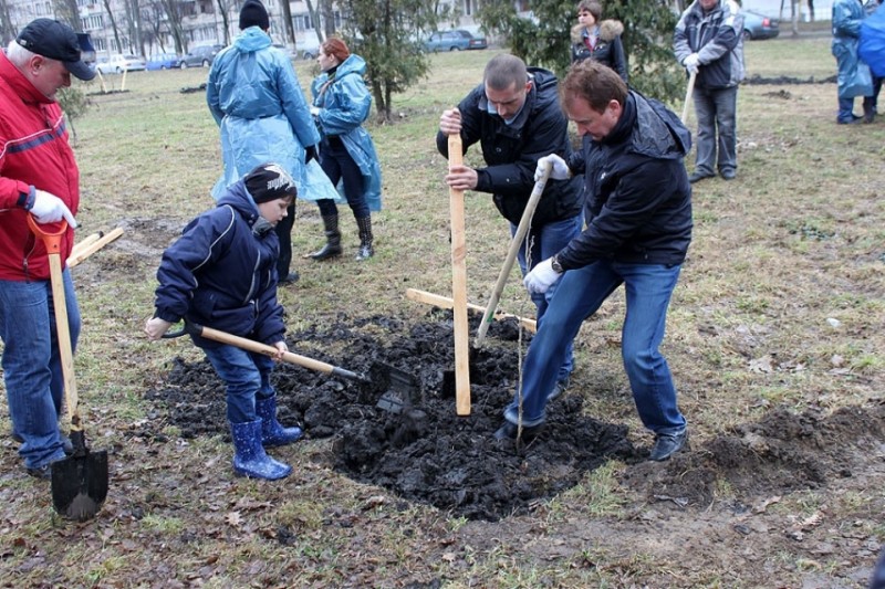
<path id="1" fill-rule="evenodd" d="M 695 113 L 698 117 L 697 159 L 695 171 L 705 175 L 738 169 L 738 86 L 730 88 L 695 88 Z M 719 135 L 717 160 L 716 136 Z"/>

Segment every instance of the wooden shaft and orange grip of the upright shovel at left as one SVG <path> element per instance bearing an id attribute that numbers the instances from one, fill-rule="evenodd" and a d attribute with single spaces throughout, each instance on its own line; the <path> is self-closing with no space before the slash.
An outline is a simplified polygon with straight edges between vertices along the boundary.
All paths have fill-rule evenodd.
<path id="1" fill-rule="evenodd" d="M 74 379 L 74 353 L 71 346 L 71 330 L 67 325 L 67 304 L 64 297 L 64 277 L 62 276 L 62 235 L 67 232 L 67 221 L 62 221 L 61 229 L 54 233 L 43 231 L 43 228 L 28 215 L 28 227 L 31 232 L 43 241 L 49 254 L 49 272 L 52 283 L 52 306 L 55 309 L 55 337 L 59 340 L 59 354 L 62 361 L 62 377 L 64 379 L 64 404 L 71 417 L 71 433 L 83 431 L 77 412 L 76 380 Z"/>

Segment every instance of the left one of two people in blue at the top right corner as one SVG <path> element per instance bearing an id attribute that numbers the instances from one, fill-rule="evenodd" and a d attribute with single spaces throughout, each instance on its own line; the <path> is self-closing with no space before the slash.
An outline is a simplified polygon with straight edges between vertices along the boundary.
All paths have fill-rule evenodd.
<path id="1" fill-rule="evenodd" d="M 833 43 L 831 51 L 839 67 L 839 115 L 836 123 L 850 125 L 862 118 L 854 109 L 855 96 L 864 96 L 864 114 L 872 115 L 873 78 L 870 67 L 857 56 L 861 22 L 864 9 L 860 0 L 835 0 L 833 2 Z M 872 117 L 871 122 L 872 122 Z"/>

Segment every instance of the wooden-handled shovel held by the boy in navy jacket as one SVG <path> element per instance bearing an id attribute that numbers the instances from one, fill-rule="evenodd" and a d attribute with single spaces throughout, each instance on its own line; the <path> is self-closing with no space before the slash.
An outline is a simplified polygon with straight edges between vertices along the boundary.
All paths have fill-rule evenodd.
<path id="1" fill-rule="evenodd" d="M 256 354 L 263 354 L 264 356 L 269 356 L 271 358 L 275 358 L 279 351 L 273 346 L 268 346 L 267 344 L 261 344 L 260 341 L 256 341 L 253 339 L 248 339 L 220 332 L 218 329 L 212 329 L 211 327 L 204 327 L 202 325 L 190 322 L 185 322 L 183 329 L 168 332 L 163 337 L 166 339 L 180 337 L 186 333 L 205 337 L 207 339 L 212 339 L 215 341 L 220 341 L 221 344 L 236 346 L 248 351 L 254 351 Z M 302 368 L 308 368 L 317 372 L 324 372 L 326 375 L 333 375 L 350 380 L 355 380 L 357 382 L 369 383 L 372 385 L 373 390 L 384 391 L 378 399 L 376 407 L 393 413 L 399 413 L 403 408 L 415 403 L 420 390 L 417 379 L 413 375 L 383 362 L 373 364 L 371 369 L 372 376 L 369 378 L 363 374 L 345 370 L 344 368 L 291 351 L 283 353 L 282 359 L 285 362 L 294 364 L 296 366 L 301 366 Z"/>

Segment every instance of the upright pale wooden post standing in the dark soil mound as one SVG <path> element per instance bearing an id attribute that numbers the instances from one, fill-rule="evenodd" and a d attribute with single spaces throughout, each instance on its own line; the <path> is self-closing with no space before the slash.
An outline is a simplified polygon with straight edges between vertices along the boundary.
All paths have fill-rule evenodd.
<path id="1" fill-rule="evenodd" d="M 464 164 L 460 134 L 449 135 L 449 169 Z M 449 188 L 451 214 L 451 298 L 455 312 L 455 408 L 470 414 L 470 350 L 467 325 L 467 246 L 465 244 L 464 190 Z"/>

